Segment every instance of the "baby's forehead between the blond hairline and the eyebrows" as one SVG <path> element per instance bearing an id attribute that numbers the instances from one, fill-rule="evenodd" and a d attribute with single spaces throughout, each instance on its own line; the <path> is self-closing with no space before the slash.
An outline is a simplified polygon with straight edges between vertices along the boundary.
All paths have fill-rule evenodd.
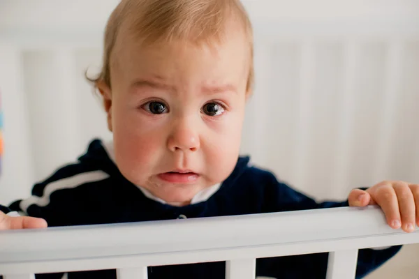
<path id="1" fill-rule="evenodd" d="M 111 67 L 112 78 L 133 90 L 194 88 L 197 94 L 242 91 L 250 66 L 249 53 L 240 47 L 243 40 L 230 36 L 226 42 L 215 40 L 211 44 L 188 40 L 145 43 L 141 38 L 131 37 L 119 42 Z"/>

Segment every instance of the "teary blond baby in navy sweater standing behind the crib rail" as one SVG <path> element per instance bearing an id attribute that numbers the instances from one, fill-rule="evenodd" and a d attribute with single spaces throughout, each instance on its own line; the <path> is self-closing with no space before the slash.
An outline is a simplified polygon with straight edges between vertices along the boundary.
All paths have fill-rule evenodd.
<path id="1" fill-rule="evenodd" d="M 344 202 L 317 203 L 239 156 L 253 86 L 252 29 L 239 0 L 123 0 L 104 43 L 103 69 L 92 82 L 113 141 L 94 140 L 77 163 L 37 183 L 31 197 L 2 206 L 1 229 L 368 204 L 381 206 L 391 227 L 415 229 L 418 185 L 385 181 L 353 190 Z M 357 278 L 399 249 L 360 250 Z M 258 259 L 256 273 L 325 278 L 327 263 L 327 253 Z M 149 268 L 151 279 L 224 275 L 224 262 Z M 116 278 L 116 272 L 68 278 Z"/>

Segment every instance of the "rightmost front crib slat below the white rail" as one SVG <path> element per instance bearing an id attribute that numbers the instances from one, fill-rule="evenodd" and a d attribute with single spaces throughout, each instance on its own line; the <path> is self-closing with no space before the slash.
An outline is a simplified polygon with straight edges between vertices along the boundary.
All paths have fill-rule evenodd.
<path id="1" fill-rule="evenodd" d="M 354 279 L 358 250 L 341 250 L 329 253 L 326 279 Z"/>

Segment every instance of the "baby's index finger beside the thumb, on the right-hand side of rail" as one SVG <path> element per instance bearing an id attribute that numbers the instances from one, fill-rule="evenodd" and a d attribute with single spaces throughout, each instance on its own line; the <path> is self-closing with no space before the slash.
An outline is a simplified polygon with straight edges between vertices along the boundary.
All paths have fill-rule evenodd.
<path id="1" fill-rule="evenodd" d="M 399 229 L 402 226 L 402 222 L 395 189 L 390 185 L 381 186 L 374 193 L 374 199 L 383 210 L 388 225 L 394 229 Z"/>

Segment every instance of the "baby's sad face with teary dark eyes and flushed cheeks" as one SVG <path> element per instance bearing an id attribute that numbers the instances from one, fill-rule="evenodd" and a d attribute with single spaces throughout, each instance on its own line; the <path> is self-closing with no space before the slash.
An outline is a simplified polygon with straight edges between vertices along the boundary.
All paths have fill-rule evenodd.
<path id="1" fill-rule="evenodd" d="M 235 167 L 247 100 L 249 49 L 240 32 L 218 45 L 115 51 L 108 117 L 122 174 L 171 204 L 225 180 Z"/>

